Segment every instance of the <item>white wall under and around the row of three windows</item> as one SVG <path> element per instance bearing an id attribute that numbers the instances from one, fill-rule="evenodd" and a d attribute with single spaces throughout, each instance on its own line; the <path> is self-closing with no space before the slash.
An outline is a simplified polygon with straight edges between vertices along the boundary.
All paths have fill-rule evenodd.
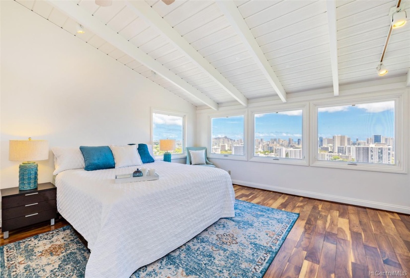
<path id="1" fill-rule="evenodd" d="M 380 85 L 380 88 L 405 87 L 405 76 L 393 79 L 401 80 L 402 82 L 383 84 Z M 375 84 L 377 82 L 373 81 L 369 84 L 356 84 L 356 87 L 360 88 L 357 90 L 369 91 L 373 89 L 369 88 L 372 83 Z M 347 87 L 354 90 L 351 86 Z M 341 92 L 341 95 L 343 95 L 343 92 Z M 303 94 L 299 94 L 299 96 L 303 96 Z M 289 97 L 288 102 L 296 103 L 299 101 L 298 99 L 303 99 L 303 97 L 299 96 L 295 98 Z M 332 94 L 309 96 L 309 98 L 312 99 L 323 97 L 334 98 Z M 408 99 L 410 100 L 410 98 Z M 249 106 L 255 107 L 257 105 L 258 107 L 268 107 L 269 105 L 261 105 L 266 105 L 269 102 L 272 104 L 278 103 L 277 101 L 266 99 L 263 104 L 250 102 Z M 408 107 L 410 107 L 410 103 L 408 103 Z M 224 107 L 220 110 L 226 110 L 229 113 L 239 109 L 242 111 L 244 110 L 240 107 L 238 107 L 238 109 Z M 212 113 L 214 112 L 209 109 L 197 111 L 197 125 L 204 127 L 202 129 L 197 129 L 197 145 L 208 146 L 209 144 L 210 139 L 206 127 L 209 129 L 209 116 Z M 408 130 L 410 128 L 409 124 L 406 127 Z M 405 155 L 409 158 L 409 140 L 405 142 L 408 146 L 408 151 Z M 252 149 L 250 144 L 248 145 L 248 149 Z M 210 161 L 214 162 L 219 168 L 227 171 L 231 170 L 231 178 L 234 184 L 346 204 L 410 213 L 409 174 L 332 169 L 228 159 L 210 159 Z M 408 167 L 409 164 L 410 163 L 408 163 Z M 408 172 L 410 173 L 410 169 Z"/>

